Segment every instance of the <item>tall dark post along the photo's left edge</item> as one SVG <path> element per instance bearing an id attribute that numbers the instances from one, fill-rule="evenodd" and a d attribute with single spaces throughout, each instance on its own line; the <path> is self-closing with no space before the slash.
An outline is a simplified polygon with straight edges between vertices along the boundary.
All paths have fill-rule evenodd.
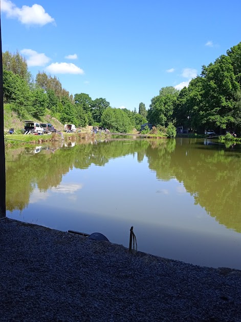
<path id="1" fill-rule="evenodd" d="M 0 1 L 1 8 L 1 1 Z M 0 218 L 6 217 L 6 174 L 4 146 L 3 52 L 0 15 Z"/>

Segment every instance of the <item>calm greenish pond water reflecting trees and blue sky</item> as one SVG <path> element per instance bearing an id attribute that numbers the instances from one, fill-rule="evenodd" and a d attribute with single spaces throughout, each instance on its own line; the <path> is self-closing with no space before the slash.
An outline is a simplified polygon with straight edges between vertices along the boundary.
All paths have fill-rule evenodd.
<path id="1" fill-rule="evenodd" d="M 208 139 L 69 142 L 6 150 L 7 217 L 100 232 L 128 247 L 241 269 L 241 149 Z"/>

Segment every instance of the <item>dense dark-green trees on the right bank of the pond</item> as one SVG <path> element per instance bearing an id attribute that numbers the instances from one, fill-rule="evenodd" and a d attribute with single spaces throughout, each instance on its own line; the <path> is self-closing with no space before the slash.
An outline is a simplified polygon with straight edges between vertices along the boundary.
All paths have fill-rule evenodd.
<path id="1" fill-rule="evenodd" d="M 185 126 L 193 132 L 213 129 L 241 132 L 241 43 L 227 50 L 214 63 L 202 66 L 200 75 L 181 91 L 160 90 L 151 99 L 147 119 L 155 125 Z"/>

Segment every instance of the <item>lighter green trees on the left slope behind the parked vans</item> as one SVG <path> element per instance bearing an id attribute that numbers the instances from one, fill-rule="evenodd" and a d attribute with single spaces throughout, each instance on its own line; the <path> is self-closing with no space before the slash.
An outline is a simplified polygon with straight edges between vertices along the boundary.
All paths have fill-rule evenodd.
<path id="1" fill-rule="evenodd" d="M 33 79 L 26 58 L 18 51 L 3 53 L 3 81 L 4 103 L 10 104 L 20 119 L 31 116 L 41 119 L 49 109 L 51 115 L 63 124 L 77 127 L 99 125 L 124 133 L 133 128 L 139 130 L 147 122 L 143 103 L 140 104 L 140 113 L 112 108 L 102 97 L 92 99 L 86 93 L 70 95 L 56 76 L 45 71 L 39 71 Z"/>

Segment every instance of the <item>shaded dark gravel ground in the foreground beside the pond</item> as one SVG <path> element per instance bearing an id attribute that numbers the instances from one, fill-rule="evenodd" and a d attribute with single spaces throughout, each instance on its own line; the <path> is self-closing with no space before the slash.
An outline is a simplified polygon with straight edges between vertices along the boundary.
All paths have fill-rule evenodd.
<path id="1" fill-rule="evenodd" d="M 0 221 L 1 321 L 241 321 L 241 271 Z"/>

